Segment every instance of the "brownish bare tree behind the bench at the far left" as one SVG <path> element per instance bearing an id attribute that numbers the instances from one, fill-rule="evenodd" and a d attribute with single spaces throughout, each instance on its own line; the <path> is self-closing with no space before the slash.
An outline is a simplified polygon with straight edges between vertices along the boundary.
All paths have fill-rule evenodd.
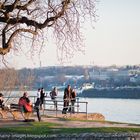
<path id="1" fill-rule="evenodd" d="M 15 69 L 0 69 L 0 92 L 6 97 L 5 103 L 15 102 L 18 98 L 9 98 L 12 96 L 17 96 L 15 94 L 16 90 L 19 90 L 23 94 L 24 91 L 32 90 L 32 85 L 34 82 L 34 76 L 32 71 L 27 71 L 26 73 L 19 73 Z"/>

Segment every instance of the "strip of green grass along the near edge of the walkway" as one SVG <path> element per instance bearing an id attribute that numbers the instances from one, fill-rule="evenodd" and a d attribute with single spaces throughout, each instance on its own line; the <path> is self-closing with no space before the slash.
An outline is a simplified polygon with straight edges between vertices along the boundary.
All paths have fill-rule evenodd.
<path id="1" fill-rule="evenodd" d="M 72 134 L 72 133 L 118 133 L 118 132 L 140 132 L 140 128 L 115 128 L 115 127 L 98 127 L 98 128 L 59 128 L 58 124 L 49 122 L 32 122 L 28 126 L 3 127 L 0 128 L 1 133 L 15 134 L 33 134 L 33 135 L 49 135 L 49 134 Z"/>

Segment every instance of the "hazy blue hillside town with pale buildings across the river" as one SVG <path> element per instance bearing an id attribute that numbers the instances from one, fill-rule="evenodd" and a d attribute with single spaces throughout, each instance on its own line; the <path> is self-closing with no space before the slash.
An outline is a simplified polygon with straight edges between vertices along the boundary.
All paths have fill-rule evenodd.
<path id="1" fill-rule="evenodd" d="M 50 66 L 35 69 L 18 70 L 21 81 L 31 77 L 32 84 L 26 82 L 24 86 L 32 89 L 44 87 L 51 90 L 54 86 L 63 89 L 67 84 L 73 88 L 80 88 L 85 83 L 92 84 L 95 88 L 108 87 L 139 87 L 140 86 L 140 65 L 108 67 L 99 66 Z M 24 82 L 23 82 L 24 83 Z M 27 85 L 26 85 L 27 84 Z M 17 85 L 18 86 L 18 85 Z"/>

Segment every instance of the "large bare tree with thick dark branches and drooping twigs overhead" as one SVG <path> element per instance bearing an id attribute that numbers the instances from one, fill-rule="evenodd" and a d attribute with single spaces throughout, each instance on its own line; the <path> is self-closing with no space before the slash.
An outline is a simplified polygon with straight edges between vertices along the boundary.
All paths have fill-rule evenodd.
<path id="1" fill-rule="evenodd" d="M 29 51 L 50 35 L 56 39 L 58 55 L 68 57 L 81 49 L 81 23 L 95 19 L 96 0 L 1 0 L 0 54 L 23 48 Z M 42 42 L 41 42 L 42 40 Z M 41 42 L 41 43 L 40 43 Z"/>

